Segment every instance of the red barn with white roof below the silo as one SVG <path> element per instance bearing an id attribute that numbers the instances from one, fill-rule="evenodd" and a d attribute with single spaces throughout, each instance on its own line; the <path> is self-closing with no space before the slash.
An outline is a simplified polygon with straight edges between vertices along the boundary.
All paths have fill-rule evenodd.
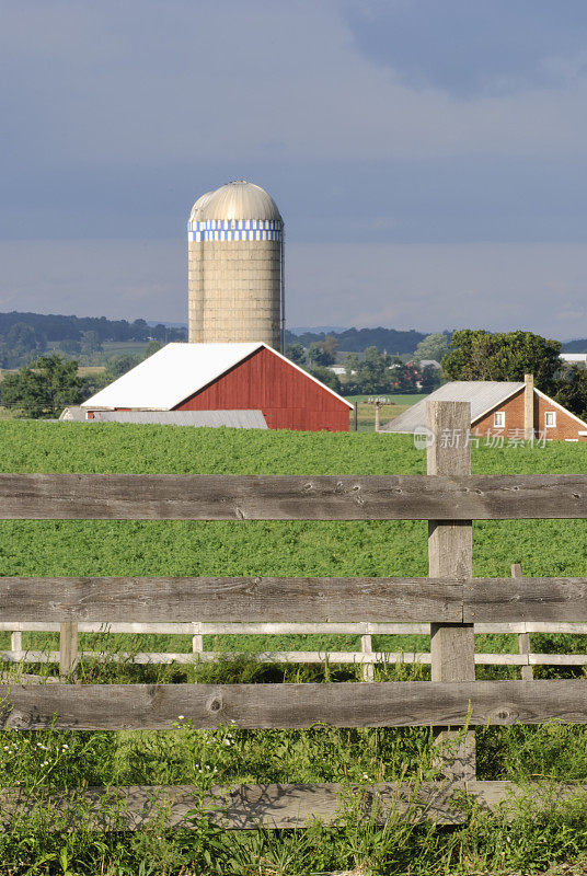
<path id="1" fill-rule="evenodd" d="M 82 405 L 100 411 L 260 411 L 269 429 L 348 431 L 353 405 L 264 343 L 168 344 Z"/>

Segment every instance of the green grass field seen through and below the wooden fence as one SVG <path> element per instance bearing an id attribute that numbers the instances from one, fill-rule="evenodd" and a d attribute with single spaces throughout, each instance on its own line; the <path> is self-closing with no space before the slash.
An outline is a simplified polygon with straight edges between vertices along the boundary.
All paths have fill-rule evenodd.
<path id="1" fill-rule="evenodd" d="M 407 436 L 189 429 L 117 424 L 0 422 L 3 472 L 160 472 L 202 474 L 424 473 L 424 452 Z M 479 473 L 585 472 L 587 446 L 479 448 Z M 0 521 L 0 570 L 7 575 L 310 575 L 425 576 L 422 522 Z M 529 576 L 584 576 L 587 521 L 496 521 L 474 525 L 474 574 L 507 576 L 521 562 Z M 356 619 L 360 620 L 360 619 Z M 479 650 L 516 650 L 514 637 L 477 637 Z M 55 647 L 28 634 L 25 646 Z M 97 636 L 100 650 L 189 650 L 188 637 Z M 421 637 L 376 637 L 376 647 L 427 648 Z M 7 645 L 5 635 L 3 645 Z M 232 636 L 207 648 L 355 649 L 353 636 Z M 533 636 L 532 647 L 586 650 L 587 637 Z M 28 671 L 38 672 L 31 666 Z M 47 671 L 47 670 L 43 670 Z M 55 671 L 55 667 L 53 668 Z M 515 677 L 516 670 L 479 668 L 479 678 Z M 43 672 L 42 672 L 43 673 Z M 582 677 L 564 668 L 537 668 L 537 677 Z M 383 667 L 379 678 L 426 678 L 422 667 Z M 219 666 L 134 667 L 85 661 L 81 681 L 296 681 L 356 679 L 341 667 L 272 667 L 246 660 Z M 230 738 L 229 738 L 230 737 Z M 26 787 L 89 784 L 195 784 L 263 781 L 356 781 L 435 774 L 428 730 L 204 733 L 4 733 L 2 783 Z M 580 726 L 476 730 L 479 777 L 587 779 L 587 729 Z M 44 748 L 39 748 L 44 746 Z M 66 746 L 66 748 L 64 748 Z M 359 828 L 353 808 L 345 828 L 304 831 L 215 832 L 164 829 L 136 834 L 71 835 L 48 832 L 43 811 L 31 826 L 0 835 L 0 874 L 137 873 L 314 874 L 362 866 L 357 873 L 530 873 L 587 854 L 587 804 L 557 803 L 548 817 L 536 800 L 513 805 L 509 820 L 471 812 L 458 829 L 392 822 L 381 832 Z M 66 850 L 70 862 L 64 867 Z M 499 850 L 496 854 L 495 850 Z M 503 852 L 503 854 L 502 854 Z M 69 857 L 68 857 L 69 856 Z M 10 866 L 3 862 L 10 862 Z M 126 867 L 126 869 L 125 869 Z M 152 867 L 152 869 L 148 869 Z M 101 869 L 102 868 L 102 869 Z M 567 873 L 572 871 L 566 871 Z M 579 871 L 576 871 L 577 873 Z"/>

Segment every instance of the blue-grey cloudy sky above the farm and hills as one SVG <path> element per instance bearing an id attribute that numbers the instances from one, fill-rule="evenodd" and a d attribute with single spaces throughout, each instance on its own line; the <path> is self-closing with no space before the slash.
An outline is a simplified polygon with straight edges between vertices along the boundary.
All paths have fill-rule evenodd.
<path id="1" fill-rule="evenodd" d="M 0 15 L 0 310 L 185 321 L 189 208 L 248 178 L 289 326 L 587 336 L 585 0 Z"/>

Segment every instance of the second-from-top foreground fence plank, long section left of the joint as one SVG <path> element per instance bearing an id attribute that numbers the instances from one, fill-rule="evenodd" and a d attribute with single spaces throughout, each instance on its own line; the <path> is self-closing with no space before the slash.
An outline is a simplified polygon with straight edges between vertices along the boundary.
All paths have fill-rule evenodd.
<path id="1" fill-rule="evenodd" d="M 2 622 L 460 621 L 462 585 L 428 578 L 0 578 Z"/>

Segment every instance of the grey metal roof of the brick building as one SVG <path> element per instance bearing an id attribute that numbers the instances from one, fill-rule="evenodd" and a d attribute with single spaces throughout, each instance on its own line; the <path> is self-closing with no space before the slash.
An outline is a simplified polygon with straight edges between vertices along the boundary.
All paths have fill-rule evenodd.
<path id="1" fill-rule="evenodd" d="M 520 382 L 500 380 L 453 380 L 445 383 L 400 414 L 391 423 L 381 427 L 381 431 L 413 433 L 426 426 L 426 402 L 470 402 L 471 423 L 475 423 L 484 414 L 505 402 L 525 387 Z"/>

